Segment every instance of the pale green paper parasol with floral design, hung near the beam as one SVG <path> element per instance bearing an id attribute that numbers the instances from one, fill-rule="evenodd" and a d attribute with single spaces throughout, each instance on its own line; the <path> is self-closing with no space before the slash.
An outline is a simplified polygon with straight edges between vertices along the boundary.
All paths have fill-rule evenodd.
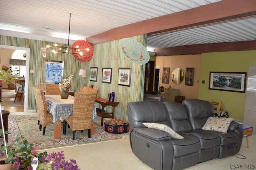
<path id="1" fill-rule="evenodd" d="M 123 38 L 118 42 L 118 48 L 127 59 L 136 64 L 146 64 L 149 61 L 147 49 L 135 40 Z"/>

